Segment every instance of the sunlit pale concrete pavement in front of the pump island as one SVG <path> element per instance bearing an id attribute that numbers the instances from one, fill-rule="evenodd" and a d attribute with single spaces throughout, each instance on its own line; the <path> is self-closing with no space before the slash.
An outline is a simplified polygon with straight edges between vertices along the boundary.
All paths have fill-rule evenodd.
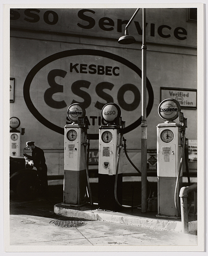
<path id="1" fill-rule="evenodd" d="M 56 216 L 56 219 L 63 219 Z M 54 218 L 34 215 L 10 215 L 10 245 L 128 245 L 194 246 L 197 236 L 148 229 L 104 221 L 84 220 L 81 227 L 50 225 Z M 37 247 L 36 247 L 37 246 Z"/>

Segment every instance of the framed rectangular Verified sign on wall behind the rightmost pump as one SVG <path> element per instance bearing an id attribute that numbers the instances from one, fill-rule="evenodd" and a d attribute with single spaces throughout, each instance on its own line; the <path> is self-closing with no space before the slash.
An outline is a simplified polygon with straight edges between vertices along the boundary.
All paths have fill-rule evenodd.
<path id="1" fill-rule="evenodd" d="M 197 109 L 197 90 L 172 87 L 160 87 L 161 101 L 166 98 L 176 99 L 182 109 Z"/>

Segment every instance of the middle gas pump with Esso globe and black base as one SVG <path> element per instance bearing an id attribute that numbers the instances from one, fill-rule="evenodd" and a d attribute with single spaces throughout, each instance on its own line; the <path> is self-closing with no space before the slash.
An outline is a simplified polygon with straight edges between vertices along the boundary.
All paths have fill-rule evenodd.
<path id="1" fill-rule="evenodd" d="M 118 209 L 114 195 L 115 182 L 117 200 L 122 203 L 121 131 L 125 127 L 125 122 L 120 116 L 121 109 L 115 103 L 108 103 L 102 109 L 102 117 L 107 125 L 99 127 L 98 208 L 103 210 Z"/>

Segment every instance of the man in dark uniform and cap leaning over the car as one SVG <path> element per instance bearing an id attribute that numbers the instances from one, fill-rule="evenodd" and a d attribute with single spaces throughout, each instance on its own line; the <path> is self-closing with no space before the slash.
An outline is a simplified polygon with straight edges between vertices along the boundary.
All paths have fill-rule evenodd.
<path id="1" fill-rule="evenodd" d="M 33 160 L 41 180 L 41 192 L 46 194 L 48 190 L 47 165 L 45 164 L 44 151 L 35 146 L 33 141 L 26 142 L 26 147 L 32 151 L 32 155 L 23 154 L 30 160 Z"/>

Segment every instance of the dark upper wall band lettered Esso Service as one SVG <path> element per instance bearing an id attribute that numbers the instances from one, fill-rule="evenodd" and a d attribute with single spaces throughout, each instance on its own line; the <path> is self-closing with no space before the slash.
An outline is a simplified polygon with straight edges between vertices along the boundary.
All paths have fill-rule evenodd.
<path id="1" fill-rule="evenodd" d="M 148 8 L 147 40 L 193 46 L 192 33 L 196 30 L 196 24 L 186 22 L 187 9 L 157 8 L 156 12 L 154 8 Z M 119 38 L 135 10 L 135 8 L 11 9 L 10 21 L 11 27 Z M 179 17 L 177 21 L 176 13 Z M 129 32 L 139 38 L 142 36 L 142 12 L 133 20 Z"/>

